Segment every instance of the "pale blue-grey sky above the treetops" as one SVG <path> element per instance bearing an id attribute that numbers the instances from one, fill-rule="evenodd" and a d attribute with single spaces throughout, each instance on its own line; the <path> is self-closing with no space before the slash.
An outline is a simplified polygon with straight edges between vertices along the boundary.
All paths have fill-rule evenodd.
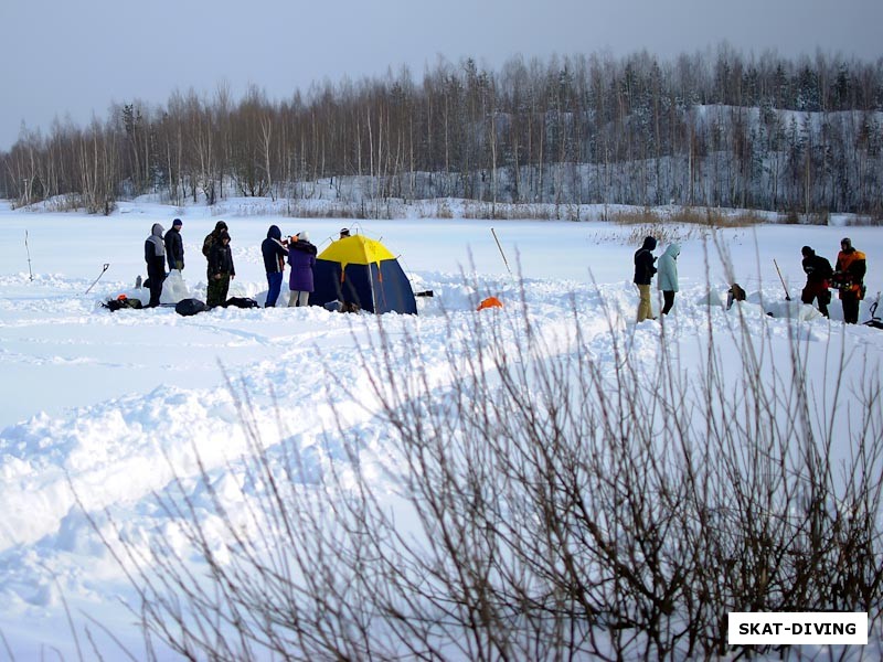
<path id="1" fill-rule="evenodd" d="M 312 81 L 419 76 L 439 56 L 646 49 L 670 58 L 727 41 L 746 54 L 883 56 L 883 0 L 0 0 L 0 150 L 22 120 L 102 120 L 114 102 L 164 104 L 249 84 L 272 99 Z"/>

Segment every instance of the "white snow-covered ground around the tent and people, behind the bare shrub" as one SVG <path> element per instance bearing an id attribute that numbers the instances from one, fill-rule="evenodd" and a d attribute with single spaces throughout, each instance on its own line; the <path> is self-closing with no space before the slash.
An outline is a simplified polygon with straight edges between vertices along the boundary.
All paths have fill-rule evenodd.
<path id="1" fill-rule="evenodd" d="M 237 201 L 228 209 L 242 211 L 247 204 Z M 455 319 L 486 314 L 475 310 L 476 302 L 491 295 L 506 303 L 503 314 L 518 310 L 519 285 L 491 227 L 512 271 L 523 278 L 526 306 L 540 327 L 567 323 L 575 303 L 593 355 L 613 365 L 604 300 L 617 317 L 616 332 L 634 333 L 636 352 L 651 356 L 658 351 L 659 322 L 631 323 L 637 307 L 632 254 L 640 243 L 634 226 L 458 218 L 353 223 L 223 215 L 223 210 L 147 202 L 123 203 L 104 217 L 10 211 L 0 203 L 0 659 L 51 658 L 53 650 L 76 659 L 73 631 L 82 638 L 84 621 L 102 623 L 129 650 L 140 650 L 140 632 L 119 606 L 131 591 L 77 506 L 74 490 L 85 509 L 110 509 L 129 532 L 163 531 L 167 515 L 149 504 L 155 492 L 168 489 L 172 472 L 195 474 L 198 451 L 223 483 L 226 463 L 247 451 L 227 380 L 247 391 L 265 438 L 279 437 L 275 419 L 281 409 L 291 413 L 286 439 L 309 448 L 330 426 L 329 402 L 351 413 L 347 425 L 372 434 L 365 426 L 370 403 L 355 406 L 343 395 L 364 386 L 352 355 L 355 343 L 364 346 L 376 333 L 372 316 L 283 307 L 183 318 L 171 308 L 113 313 L 100 308 L 118 293 L 138 293 L 135 280 L 145 275 L 150 226 L 159 222 L 169 228 L 174 217 L 183 220 L 184 279 L 201 299 L 205 261 L 200 249 L 219 220 L 227 222 L 232 235 L 237 276 L 231 295 L 258 301 L 266 291 L 259 245 L 270 224 L 285 234 L 309 231 L 320 250 L 342 226 L 381 239 L 401 256 L 415 291 L 434 292 L 418 299 L 419 316 L 384 320 L 387 330 L 419 332 L 422 351 L 418 356 L 403 352 L 403 370 L 421 361 L 439 380 L 456 378 L 446 373 L 449 319 L 443 310 Z M 666 233 L 682 244 L 681 291 L 667 332 L 678 340 L 701 337 L 710 319 L 715 323 L 732 314 L 715 308 L 709 316 L 703 303 L 710 289 L 725 298 L 727 269 L 698 228 Z M 864 321 L 883 289 L 880 228 L 763 225 L 721 231 L 717 239 L 731 256 L 735 280 L 757 303 L 744 308 L 753 334 L 785 346 L 792 320 L 784 316 L 790 314 L 799 318 L 810 344 L 842 340 L 873 372 L 883 356 L 883 332 L 844 327 L 836 298 L 830 321 L 785 306 L 773 261 L 791 299 L 799 301 L 800 247 L 809 244 L 833 263 L 844 235 L 868 255 Z M 663 241 L 657 255 L 664 247 Z M 105 264 L 107 271 L 86 293 Z M 280 300 L 287 300 L 285 288 Z M 689 367 L 689 361 L 685 352 L 682 363 Z M 337 383 L 329 383 L 322 366 L 333 369 Z M 821 359 L 808 366 L 819 371 L 819 378 L 829 367 Z M 109 650 L 106 639 L 105 644 Z"/>

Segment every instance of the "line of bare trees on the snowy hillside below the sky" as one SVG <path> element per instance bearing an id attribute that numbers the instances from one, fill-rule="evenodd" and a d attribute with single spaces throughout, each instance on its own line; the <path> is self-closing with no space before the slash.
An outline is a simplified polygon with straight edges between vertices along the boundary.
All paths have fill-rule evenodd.
<path id="1" fill-rule="evenodd" d="M 498 71 L 439 60 L 273 100 L 174 92 L 88 126 L 23 128 L 0 194 L 109 213 L 158 193 L 465 197 L 488 203 L 682 204 L 881 213 L 883 57 L 714 51 L 521 56 Z"/>

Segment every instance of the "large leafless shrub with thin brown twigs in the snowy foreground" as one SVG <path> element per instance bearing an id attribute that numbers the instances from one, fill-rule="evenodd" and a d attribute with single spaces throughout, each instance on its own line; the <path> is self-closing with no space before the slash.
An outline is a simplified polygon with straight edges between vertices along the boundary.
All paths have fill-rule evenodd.
<path id="1" fill-rule="evenodd" d="M 450 314 L 447 377 L 403 373 L 425 348 L 377 318 L 351 395 L 379 403 L 380 442 L 327 430 L 318 463 L 262 439 L 240 394 L 245 508 L 203 469 L 208 499 L 181 481 L 159 500 L 191 548 L 123 544 L 146 631 L 217 660 L 748 654 L 731 611 L 868 611 L 879 631 L 876 374 L 845 380 L 841 355 L 813 385 L 796 334 L 770 367 L 767 340 L 711 319 L 688 372 L 666 324 L 648 362 L 611 310 L 598 360 L 575 306 L 555 334 L 523 311 Z"/>

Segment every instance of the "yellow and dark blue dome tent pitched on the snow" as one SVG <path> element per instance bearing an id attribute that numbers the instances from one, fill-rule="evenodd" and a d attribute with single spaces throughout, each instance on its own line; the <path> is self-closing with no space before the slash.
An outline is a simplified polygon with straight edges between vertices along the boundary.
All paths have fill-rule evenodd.
<path id="1" fill-rule="evenodd" d="M 316 257 L 310 305 L 357 303 L 370 312 L 417 314 L 411 282 L 395 256 L 380 242 L 352 235 Z"/>

